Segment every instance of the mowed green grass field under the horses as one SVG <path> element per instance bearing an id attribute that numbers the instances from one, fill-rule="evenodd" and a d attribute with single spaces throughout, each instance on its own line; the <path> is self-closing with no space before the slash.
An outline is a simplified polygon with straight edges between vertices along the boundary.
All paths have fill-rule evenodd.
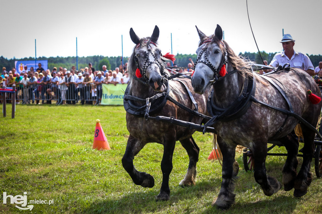
<path id="1" fill-rule="evenodd" d="M 111 150 L 92 149 L 95 120 L 100 119 Z M 139 171 L 154 176 L 155 186 L 135 185 L 123 169 L 128 131 L 123 106 L 48 106 L 17 105 L 11 119 L 0 117 L 0 211 L 2 213 L 321 213 L 322 179 L 311 167 L 313 181 L 308 193 L 293 197 L 293 190 L 280 190 L 271 197 L 262 192 L 253 172 L 243 169 L 237 154 L 239 179 L 236 203 L 226 211 L 211 206 L 221 185 L 221 166 L 207 160 L 212 150 L 212 135 L 200 132 L 194 139 L 200 147 L 197 182 L 181 188 L 188 156 L 177 142 L 170 174 L 171 198 L 155 201 L 162 181 L 160 162 L 163 146 L 150 143 L 135 157 Z M 275 151 L 284 151 L 277 148 Z M 285 157 L 269 156 L 267 173 L 282 180 Z M 301 162 L 301 158 L 299 158 Z M 300 165 L 299 165 L 300 166 Z M 2 203 L 2 192 L 22 195 L 29 200 L 54 200 L 52 205 L 34 204 L 32 211 Z"/>

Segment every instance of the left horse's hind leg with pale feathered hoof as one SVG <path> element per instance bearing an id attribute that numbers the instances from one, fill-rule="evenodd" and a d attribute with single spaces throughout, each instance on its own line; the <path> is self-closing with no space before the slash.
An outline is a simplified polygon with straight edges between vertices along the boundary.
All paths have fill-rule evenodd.
<path id="1" fill-rule="evenodd" d="M 199 158 L 199 147 L 194 142 L 194 138 L 190 136 L 180 140 L 181 145 L 185 148 L 189 156 L 189 166 L 185 178 L 179 183 L 180 186 L 191 186 L 195 185 L 195 178 L 197 174 L 196 164 Z"/>

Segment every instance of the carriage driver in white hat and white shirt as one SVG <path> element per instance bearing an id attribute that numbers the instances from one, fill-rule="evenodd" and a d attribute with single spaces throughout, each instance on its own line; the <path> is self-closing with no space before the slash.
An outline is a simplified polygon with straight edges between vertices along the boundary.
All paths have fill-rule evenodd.
<path id="1" fill-rule="evenodd" d="M 291 67 L 301 68 L 314 76 L 315 72 L 311 60 L 307 55 L 293 49 L 295 40 L 293 40 L 290 34 L 284 34 L 280 43 L 282 43 L 284 51 L 275 54 L 270 62 L 270 66 L 278 67 L 279 65 L 283 66 L 289 63 Z"/>

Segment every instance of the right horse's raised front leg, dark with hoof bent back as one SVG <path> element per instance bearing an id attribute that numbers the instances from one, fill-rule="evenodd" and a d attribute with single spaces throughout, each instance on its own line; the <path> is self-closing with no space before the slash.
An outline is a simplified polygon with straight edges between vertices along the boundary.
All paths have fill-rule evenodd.
<path id="1" fill-rule="evenodd" d="M 267 156 L 267 144 L 254 143 L 254 178 L 260 184 L 263 192 L 271 196 L 281 188 L 281 183 L 272 176 L 266 174 L 265 160 Z"/>

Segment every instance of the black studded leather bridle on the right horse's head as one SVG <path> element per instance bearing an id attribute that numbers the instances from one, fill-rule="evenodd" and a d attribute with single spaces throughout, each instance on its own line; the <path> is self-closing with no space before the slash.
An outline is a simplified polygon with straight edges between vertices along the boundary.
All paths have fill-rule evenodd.
<path id="1" fill-rule="evenodd" d="M 211 64 L 211 62 L 209 61 L 209 59 L 207 58 L 207 48 L 208 48 L 208 45 L 212 42 L 212 39 L 208 39 L 206 41 L 204 41 L 202 43 L 203 47 L 202 47 L 202 51 L 200 52 L 199 56 L 197 57 L 196 59 L 196 62 L 194 63 L 194 70 L 197 66 L 198 63 L 203 63 L 205 64 L 206 66 L 208 66 L 212 71 L 213 71 L 213 79 L 210 80 L 209 82 L 212 82 L 212 85 L 216 82 L 216 81 L 219 81 L 221 80 L 222 76 L 219 75 L 219 71 L 220 69 L 223 67 L 224 64 L 227 63 L 227 51 L 226 51 L 226 46 L 225 44 L 220 41 L 220 43 L 223 45 L 224 47 L 224 51 L 223 51 L 223 56 L 221 58 L 221 61 L 220 61 L 220 64 L 219 64 L 219 67 L 218 69 L 215 68 L 213 66 L 213 64 Z M 203 55 L 204 53 L 204 58 L 206 59 L 206 61 L 204 60 L 199 60 L 201 58 L 201 56 Z"/>

